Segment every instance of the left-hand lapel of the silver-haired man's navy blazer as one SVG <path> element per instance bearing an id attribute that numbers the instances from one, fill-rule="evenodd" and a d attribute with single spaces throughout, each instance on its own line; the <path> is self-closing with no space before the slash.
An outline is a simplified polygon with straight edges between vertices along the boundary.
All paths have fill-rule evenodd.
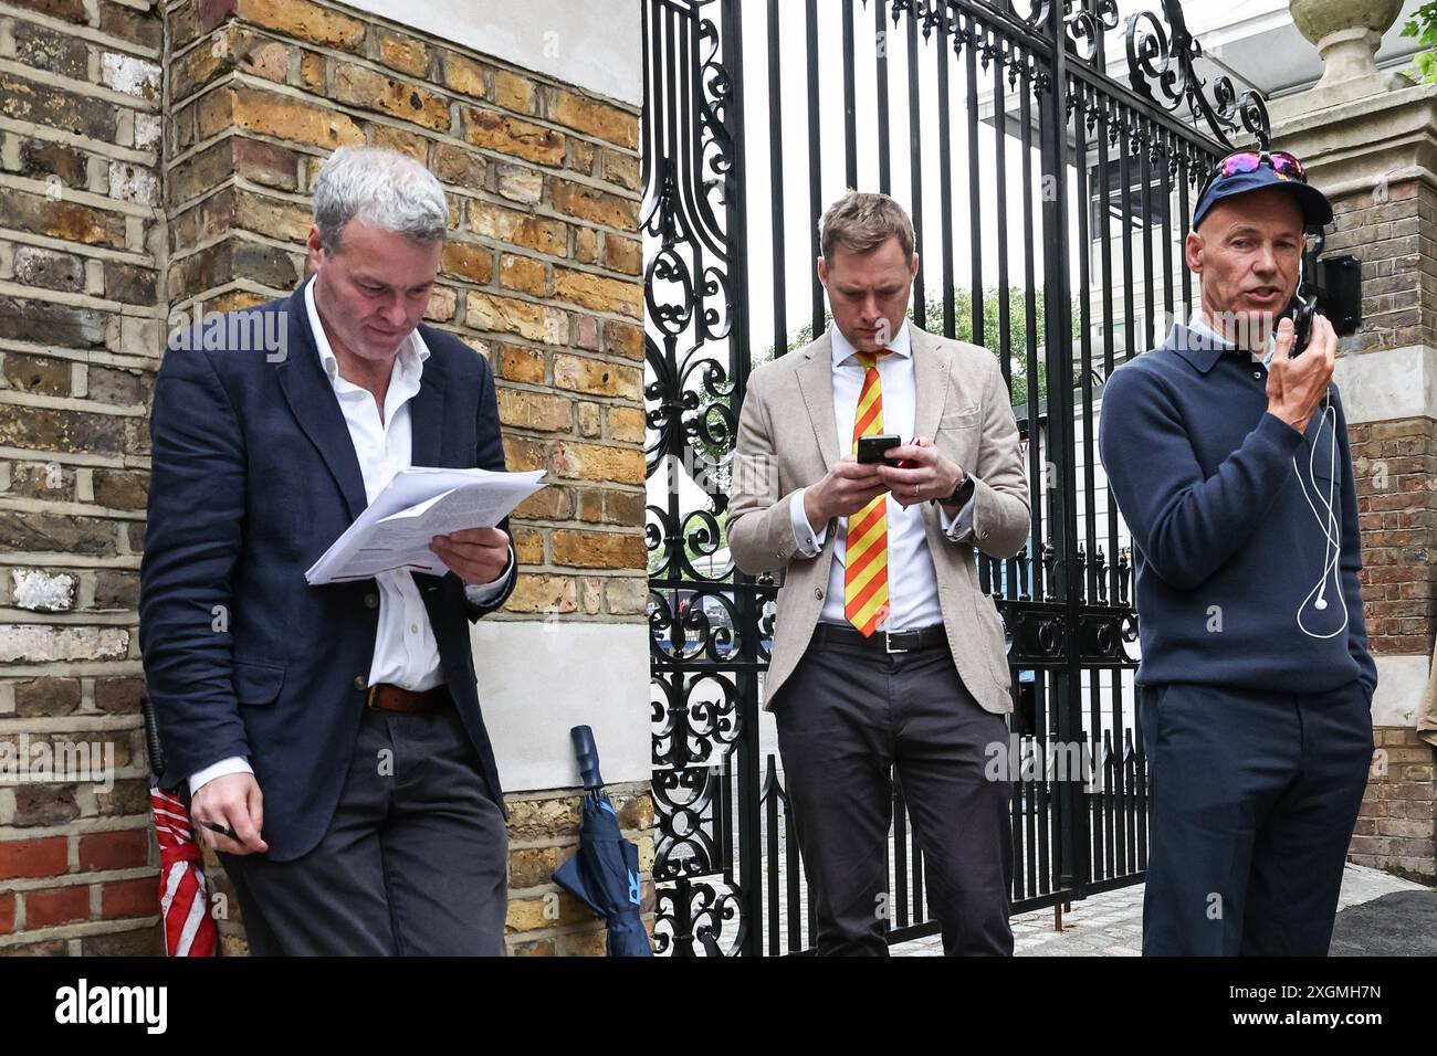
<path id="1" fill-rule="evenodd" d="M 299 427 L 319 448 L 335 483 L 345 496 L 349 519 L 358 517 L 369 504 L 364 493 L 364 474 L 355 457 L 354 440 L 335 389 L 325 376 L 319 362 L 319 348 L 309 330 L 309 310 L 305 306 L 305 287 L 290 295 L 283 309 L 289 315 L 290 353 L 276 368 L 279 385 L 285 392 L 290 411 Z"/>

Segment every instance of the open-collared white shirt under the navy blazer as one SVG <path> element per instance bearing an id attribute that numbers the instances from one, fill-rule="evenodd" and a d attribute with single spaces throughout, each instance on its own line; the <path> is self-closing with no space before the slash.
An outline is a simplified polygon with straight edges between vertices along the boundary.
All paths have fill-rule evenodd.
<path id="1" fill-rule="evenodd" d="M 411 430 L 410 399 L 420 391 L 424 361 L 430 349 L 418 330 L 410 333 L 394 358 L 389 372 L 389 388 L 384 397 L 384 418 L 369 389 L 355 385 L 339 375 L 339 359 L 329 345 L 329 338 L 315 307 L 315 283 L 305 286 L 305 307 L 309 312 L 309 329 L 315 335 L 319 362 L 343 411 L 354 441 L 359 471 L 364 476 L 365 501 L 372 503 L 394 474 L 410 467 Z M 514 547 L 509 547 L 509 565 L 491 583 L 470 586 L 466 596 L 483 605 L 493 601 L 504 589 L 506 580 L 514 572 Z M 369 685 L 389 682 L 407 690 L 430 690 L 444 681 L 440 665 L 440 648 L 434 641 L 420 588 L 408 570 L 381 572 L 375 576 L 379 586 L 379 629 L 374 642 L 374 662 L 369 665 Z M 218 763 L 190 776 L 193 796 L 207 782 L 227 773 L 253 773 L 241 756 L 221 759 Z"/>

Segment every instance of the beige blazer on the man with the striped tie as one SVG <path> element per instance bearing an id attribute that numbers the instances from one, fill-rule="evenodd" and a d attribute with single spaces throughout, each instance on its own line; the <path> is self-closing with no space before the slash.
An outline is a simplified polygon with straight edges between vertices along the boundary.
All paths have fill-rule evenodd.
<path id="1" fill-rule="evenodd" d="M 997 359 L 984 348 L 937 338 L 910 323 L 917 382 L 914 435 L 930 437 L 976 484 L 973 530 L 950 540 L 938 507 L 923 503 L 938 606 L 963 684 L 987 711 L 1012 710 L 1003 628 L 979 590 L 974 549 L 1012 557 L 1027 539 L 1027 478 L 1017 422 Z M 911 437 L 904 437 L 905 441 Z M 818 483 L 839 451 L 829 335 L 757 368 L 739 417 L 729 547 L 749 575 L 782 576 L 773 654 L 764 682 L 772 708 L 808 649 L 833 565 L 836 526 L 813 557 L 798 550 L 789 520 L 798 488 Z"/>

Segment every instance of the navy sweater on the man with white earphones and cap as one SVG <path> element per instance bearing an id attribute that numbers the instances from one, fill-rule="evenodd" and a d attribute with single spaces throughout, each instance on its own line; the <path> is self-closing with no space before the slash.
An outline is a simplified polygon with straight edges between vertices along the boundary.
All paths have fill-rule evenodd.
<path id="1" fill-rule="evenodd" d="M 1306 434 L 1267 414 L 1266 388 L 1267 371 L 1246 351 L 1184 326 L 1104 388 L 1098 445 L 1132 532 L 1137 681 L 1322 693 L 1359 678 L 1371 700 L 1377 665 L 1367 651 L 1357 494 L 1336 386 L 1336 428 L 1319 409 Z M 1329 481 L 1341 592 L 1329 568 L 1326 608 L 1318 609 Z M 1331 636 L 1303 634 L 1299 608 L 1312 635 Z"/>

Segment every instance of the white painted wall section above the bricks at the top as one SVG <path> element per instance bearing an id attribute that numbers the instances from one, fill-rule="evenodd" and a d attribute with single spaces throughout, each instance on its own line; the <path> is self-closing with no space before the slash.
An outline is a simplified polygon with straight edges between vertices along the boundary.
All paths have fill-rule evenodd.
<path id="1" fill-rule="evenodd" d="M 596 95 L 644 102 L 641 7 L 635 0 L 346 0 Z"/>

